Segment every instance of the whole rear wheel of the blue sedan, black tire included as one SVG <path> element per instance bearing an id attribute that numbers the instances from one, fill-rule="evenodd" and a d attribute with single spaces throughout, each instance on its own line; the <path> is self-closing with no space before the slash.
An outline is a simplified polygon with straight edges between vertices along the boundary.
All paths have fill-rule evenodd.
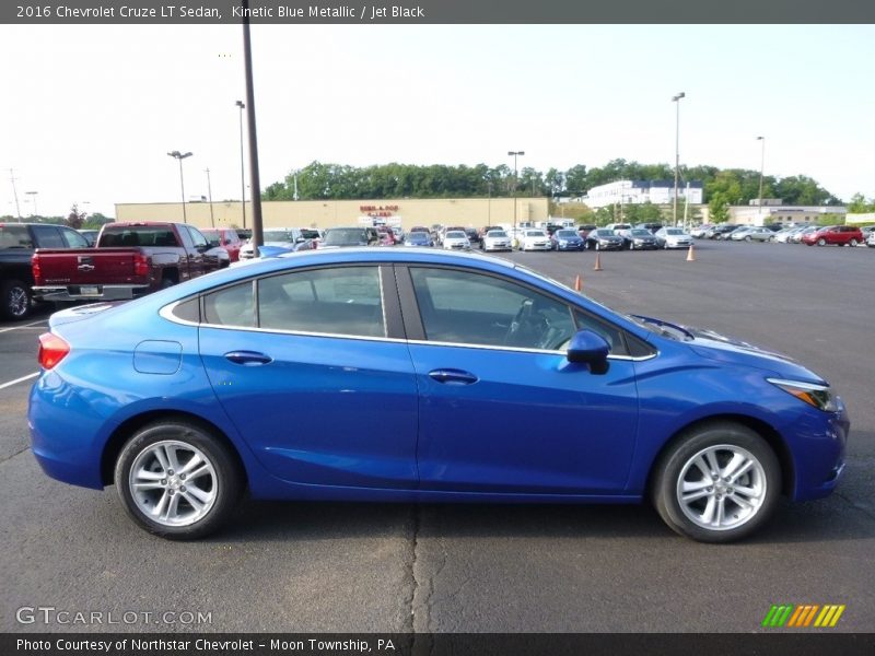
<path id="1" fill-rule="evenodd" d="M 148 488 L 133 489 L 137 481 Z M 115 483 L 131 519 L 171 540 L 196 540 L 218 530 L 243 492 L 243 476 L 229 448 L 182 421 L 140 429 L 118 456 Z M 163 512 L 156 515 L 159 507 Z"/>

